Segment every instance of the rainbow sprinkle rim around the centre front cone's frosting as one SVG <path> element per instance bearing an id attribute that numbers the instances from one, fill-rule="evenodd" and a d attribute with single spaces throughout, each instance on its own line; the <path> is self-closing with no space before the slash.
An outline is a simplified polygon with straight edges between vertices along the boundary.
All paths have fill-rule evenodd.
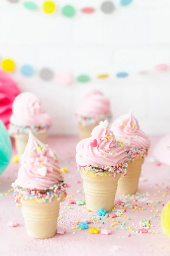
<path id="1" fill-rule="evenodd" d="M 77 169 L 84 170 L 85 173 L 93 172 L 97 177 L 102 176 L 112 176 L 116 177 L 118 174 L 122 174 L 123 176 L 127 175 L 127 163 L 121 163 L 116 166 L 80 166 L 77 165 Z"/>

